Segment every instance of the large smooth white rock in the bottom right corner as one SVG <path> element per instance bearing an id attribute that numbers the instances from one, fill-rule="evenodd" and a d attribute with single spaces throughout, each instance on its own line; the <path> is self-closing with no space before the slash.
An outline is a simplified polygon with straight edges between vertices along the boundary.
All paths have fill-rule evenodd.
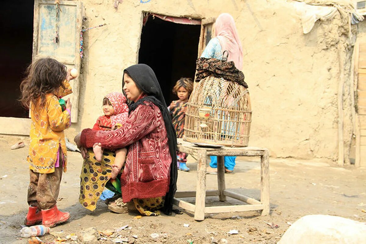
<path id="1" fill-rule="evenodd" d="M 366 223 L 330 215 L 307 215 L 295 221 L 278 244 L 366 243 Z"/>

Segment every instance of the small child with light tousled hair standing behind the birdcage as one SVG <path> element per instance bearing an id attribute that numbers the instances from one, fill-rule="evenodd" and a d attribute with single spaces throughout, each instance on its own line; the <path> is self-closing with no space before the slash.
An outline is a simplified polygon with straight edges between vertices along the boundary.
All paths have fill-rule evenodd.
<path id="1" fill-rule="evenodd" d="M 173 93 L 179 100 L 172 101 L 168 110 L 172 116 L 172 122 L 177 134 L 177 138 L 182 138 L 184 133 L 184 118 L 186 117 L 186 107 L 189 96 L 193 91 L 193 80 L 191 78 L 180 78 L 173 87 Z M 189 171 L 187 167 L 187 156 L 184 152 L 177 152 L 178 169 Z"/>

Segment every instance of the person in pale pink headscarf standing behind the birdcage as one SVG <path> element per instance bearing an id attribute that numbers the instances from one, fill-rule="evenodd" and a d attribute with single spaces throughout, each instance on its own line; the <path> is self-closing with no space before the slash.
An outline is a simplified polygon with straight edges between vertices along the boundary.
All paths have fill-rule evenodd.
<path id="1" fill-rule="evenodd" d="M 234 18 L 229 14 L 220 14 L 215 22 L 216 37 L 212 38 L 203 50 L 201 58 L 223 59 L 223 52 L 228 52 L 228 60 L 233 61 L 238 70 L 243 69 L 243 47 L 239 40 Z M 217 172 L 217 157 L 210 156 L 208 174 Z M 234 173 L 235 156 L 225 156 L 225 173 Z"/>

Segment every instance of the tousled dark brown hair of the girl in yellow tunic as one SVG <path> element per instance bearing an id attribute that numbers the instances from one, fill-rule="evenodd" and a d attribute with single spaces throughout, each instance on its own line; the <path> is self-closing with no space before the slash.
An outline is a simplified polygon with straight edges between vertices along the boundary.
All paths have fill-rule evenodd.
<path id="1" fill-rule="evenodd" d="M 20 102 L 29 109 L 33 103 L 41 109 L 46 104 L 46 94 L 54 93 L 60 87 L 65 89 L 66 66 L 52 58 L 41 58 L 31 63 L 26 78 L 20 84 Z"/>

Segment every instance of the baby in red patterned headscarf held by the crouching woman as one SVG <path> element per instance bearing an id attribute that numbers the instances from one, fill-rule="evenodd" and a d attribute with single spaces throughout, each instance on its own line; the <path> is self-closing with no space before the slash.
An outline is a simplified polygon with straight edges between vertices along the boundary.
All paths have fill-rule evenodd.
<path id="1" fill-rule="evenodd" d="M 112 130 L 123 126 L 124 121 L 128 118 L 128 106 L 126 97 L 119 92 L 109 93 L 103 99 L 103 113 L 97 119 L 93 126 L 93 130 Z M 98 162 L 101 162 L 103 157 L 103 149 L 100 143 L 93 146 L 93 152 Z M 127 148 L 116 150 L 116 158 L 112 165 L 112 179 L 115 179 L 122 169 L 126 161 Z"/>

